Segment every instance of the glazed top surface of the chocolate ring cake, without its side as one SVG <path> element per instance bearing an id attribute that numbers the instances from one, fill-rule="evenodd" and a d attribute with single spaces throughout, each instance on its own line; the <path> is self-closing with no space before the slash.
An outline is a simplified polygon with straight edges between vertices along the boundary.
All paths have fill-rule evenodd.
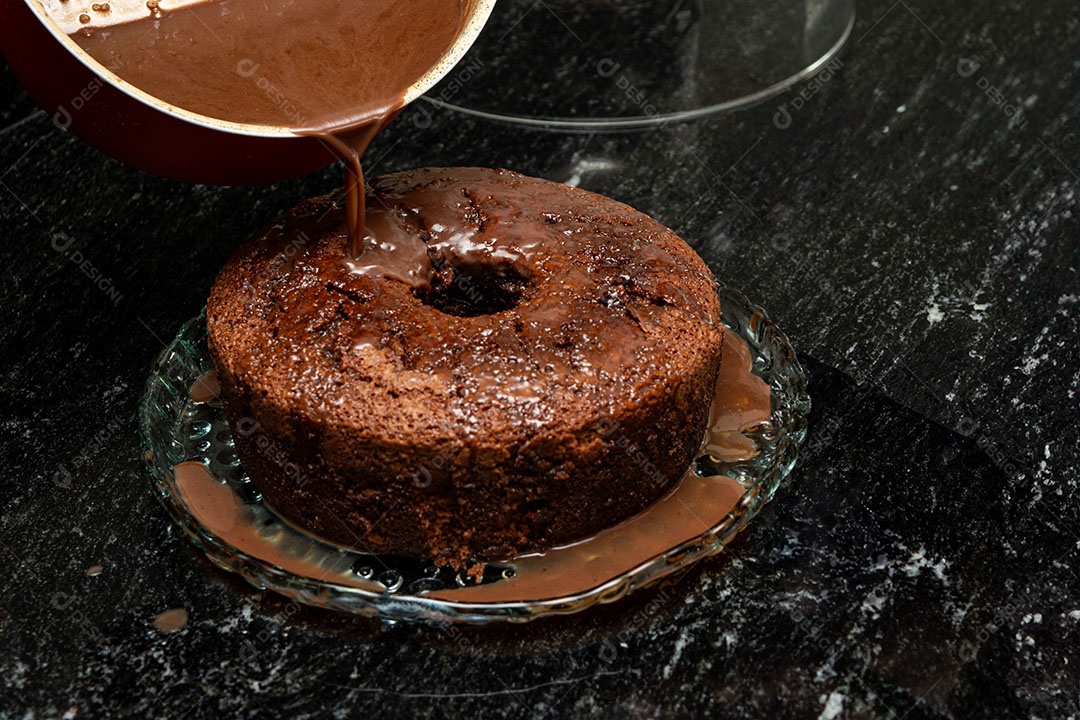
<path id="1" fill-rule="evenodd" d="M 367 202 L 378 241 L 359 258 L 327 196 L 218 277 L 217 355 L 271 404 L 388 441 L 569 432 L 663 392 L 720 342 L 710 270 L 622 203 L 483 168 L 377 178 Z"/>

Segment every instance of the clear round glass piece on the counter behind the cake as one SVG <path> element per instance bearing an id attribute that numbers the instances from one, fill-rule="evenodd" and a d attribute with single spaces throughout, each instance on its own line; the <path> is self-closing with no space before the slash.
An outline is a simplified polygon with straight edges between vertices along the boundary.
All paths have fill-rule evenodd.
<path id="1" fill-rule="evenodd" d="M 854 17 L 854 0 L 499 0 L 426 97 L 551 128 L 688 120 L 821 70 Z"/>

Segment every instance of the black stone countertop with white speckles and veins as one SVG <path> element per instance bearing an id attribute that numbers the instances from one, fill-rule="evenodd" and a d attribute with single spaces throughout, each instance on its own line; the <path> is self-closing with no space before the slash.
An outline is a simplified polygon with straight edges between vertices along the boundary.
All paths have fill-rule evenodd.
<path id="1" fill-rule="evenodd" d="M 0 72 L 0 715 L 1080 716 L 1080 12 L 859 10 L 785 130 L 792 94 L 606 135 L 407 111 L 372 149 L 375 172 L 580 175 L 685 236 L 812 376 L 798 466 L 729 554 L 524 626 L 298 610 L 171 528 L 138 468 L 150 362 L 232 247 L 339 169 L 163 180 Z"/>

